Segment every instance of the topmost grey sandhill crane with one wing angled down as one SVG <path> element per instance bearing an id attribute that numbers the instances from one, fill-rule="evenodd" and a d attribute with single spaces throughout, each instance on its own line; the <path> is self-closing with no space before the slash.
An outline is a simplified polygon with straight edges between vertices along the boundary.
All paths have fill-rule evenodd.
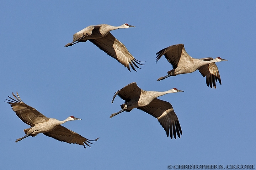
<path id="1" fill-rule="evenodd" d="M 119 28 L 130 28 L 135 26 L 130 26 L 129 24 L 123 24 L 121 26 L 115 27 L 108 24 L 99 24 L 96 26 L 89 26 L 73 35 L 73 41 L 66 44 L 65 47 L 74 45 L 78 42 L 86 42 L 87 40 L 95 44 L 99 49 L 106 52 L 111 57 L 115 58 L 118 62 L 127 67 L 130 71 L 130 67 L 136 71 L 134 68 L 137 67 L 137 64 L 141 64 L 136 60 L 130 52 L 127 50 L 126 46 L 122 42 L 118 41 L 111 33 L 111 30 Z M 137 64 L 136 64 L 137 63 Z M 130 65 L 129 65 L 130 64 Z M 134 64 L 134 66 L 133 66 Z"/>

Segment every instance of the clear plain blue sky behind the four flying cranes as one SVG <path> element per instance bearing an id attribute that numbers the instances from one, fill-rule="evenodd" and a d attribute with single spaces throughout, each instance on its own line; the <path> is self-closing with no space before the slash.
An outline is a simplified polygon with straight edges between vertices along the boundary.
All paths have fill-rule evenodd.
<path id="1" fill-rule="evenodd" d="M 3 169 L 168 169 L 172 164 L 255 164 L 255 1 L 1 1 L 0 165 Z M 113 30 L 132 55 L 146 61 L 129 72 L 91 42 L 64 47 L 96 24 Z M 221 57 L 222 85 L 206 86 L 196 71 L 156 81 L 171 70 L 155 53 L 184 44 L 194 58 Z M 143 90 L 185 92 L 159 97 L 174 107 L 183 135 L 166 137 L 157 119 L 134 109 L 113 118 L 123 100 L 114 92 L 137 82 Z M 18 92 L 63 126 L 95 139 L 91 148 L 39 134 L 5 103 Z"/>

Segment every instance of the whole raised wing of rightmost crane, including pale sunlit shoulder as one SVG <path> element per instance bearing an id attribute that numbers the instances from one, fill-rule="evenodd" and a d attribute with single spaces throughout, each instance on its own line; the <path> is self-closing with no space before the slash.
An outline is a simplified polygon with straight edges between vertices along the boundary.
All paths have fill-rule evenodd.
<path id="1" fill-rule="evenodd" d="M 172 64 L 172 67 L 175 69 L 179 65 L 185 65 L 190 62 L 190 55 L 186 52 L 184 44 L 176 44 L 169 46 L 165 49 L 160 50 L 156 53 L 156 62 L 164 55 L 166 60 Z"/>

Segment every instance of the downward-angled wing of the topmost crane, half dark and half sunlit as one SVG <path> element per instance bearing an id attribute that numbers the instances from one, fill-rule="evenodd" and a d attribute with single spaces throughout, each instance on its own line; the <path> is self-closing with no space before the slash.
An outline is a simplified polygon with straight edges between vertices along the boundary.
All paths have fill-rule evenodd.
<path id="1" fill-rule="evenodd" d="M 98 39 L 89 39 L 93 44 L 95 44 L 99 49 L 106 52 L 111 57 L 115 58 L 118 62 L 124 65 L 124 67 L 127 67 L 130 71 L 130 67 L 134 71 L 137 67 L 137 64 L 143 65 L 139 63 L 140 61 L 136 60 L 130 52 L 127 50 L 126 46 L 122 44 L 122 42 L 118 41 L 111 33 L 108 33 L 106 36 L 103 36 L 102 38 Z"/>

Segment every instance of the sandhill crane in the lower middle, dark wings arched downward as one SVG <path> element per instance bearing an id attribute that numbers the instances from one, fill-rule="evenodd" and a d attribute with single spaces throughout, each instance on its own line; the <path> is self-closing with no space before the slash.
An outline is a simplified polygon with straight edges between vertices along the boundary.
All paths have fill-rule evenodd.
<path id="1" fill-rule="evenodd" d="M 166 131 L 167 137 L 169 137 L 170 133 L 170 137 L 172 138 L 172 136 L 174 136 L 176 139 L 177 133 L 177 136 L 180 138 L 180 135 L 182 135 L 181 126 L 171 103 L 156 98 L 168 93 L 176 92 L 182 92 L 182 90 L 173 88 L 163 92 L 145 91 L 140 89 L 135 82 L 130 83 L 115 93 L 112 103 L 117 95 L 125 100 L 125 103 L 121 104 L 122 110 L 111 114 L 110 118 L 124 111 L 130 112 L 133 108 L 137 108 L 157 118 Z"/>

